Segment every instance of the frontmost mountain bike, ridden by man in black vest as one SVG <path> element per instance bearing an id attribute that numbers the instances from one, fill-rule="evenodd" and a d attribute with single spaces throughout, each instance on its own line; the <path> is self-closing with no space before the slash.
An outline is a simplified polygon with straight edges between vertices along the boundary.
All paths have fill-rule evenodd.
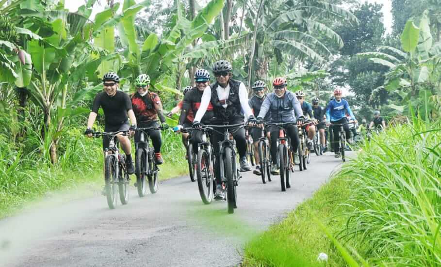
<path id="1" fill-rule="evenodd" d="M 239 169 L 236 166 L 236 141 L 232 134 L 247 126 L 247 123 L 231 124 L 231 125 L 206 125 L 211 131 L 219 133 L 224 136 L 224 140 L 219 141 L 219 160 L 220 162 L 220 177 L 222 181 L 222 188 L 227 191 L 228 213 L 234 213 L 237 208 L 237 190 L 239 180 L 241 178 Z M 222 129 L 219 131 L 217 129 Z M 225 186 L 225 187 L 224 187 Z"/>

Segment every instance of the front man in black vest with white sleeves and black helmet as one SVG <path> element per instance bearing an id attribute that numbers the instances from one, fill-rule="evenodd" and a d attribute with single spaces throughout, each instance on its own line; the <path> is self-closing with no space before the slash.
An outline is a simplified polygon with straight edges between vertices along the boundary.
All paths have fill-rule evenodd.
<path id="1" fill-rule="evenodd" d="M 251 123 L 255 123 L 253 112 L 248 105 L 248 91 L 245 88 L 245 84 L 241 81 L 231 79 L 233 67 L 231 63 L 225 60 L 217 61 L 213 64 L 213 73 L 216 77 L 216 82 L 207 87 L 204 90 L 201 98 L 201 104 L 199 110 L 195 115 L 193 126 L 195 128 L 201 127 L 201 120 L 208 109 L 210 102 L 213 106 L 213 119 L 212 124 L 224 125 L 228 124 L 240 124 L 244 122 L 246 118 Z M 244 115 L 242 114 L 244 110 Z M 233 133 L 233 137 L 236 141 L 237 150 L 240 157 L 241 171 L 251 171 L 246 160 L 246 140 L 245 129 L 240 128 Z M 223 135 L 213 132 L 211 141 L 214 147 L 214 155 L 219 158 L 219 141 L 223 140 Z M 215 176 L 217 178 L 216 193 L 214 198 L 216 200 L 223 199 L 223 188 L 220 177 L 220 162 L 216 160 L 214 164 Z"/>

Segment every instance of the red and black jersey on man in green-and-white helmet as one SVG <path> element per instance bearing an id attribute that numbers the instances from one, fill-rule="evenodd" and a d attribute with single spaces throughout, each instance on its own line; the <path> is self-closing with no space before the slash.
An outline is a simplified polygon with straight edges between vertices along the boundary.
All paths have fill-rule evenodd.
<path id="1" fill-rule="evenodd" d="M 131 104 L 139 126 L 156 121 L 158 115 L 161 122 L 165 122 L 162 115 L 163 105 L 158 94 L 153 92 L 148 92 L 144 96 L 138 93 L 132 94 Z"/>

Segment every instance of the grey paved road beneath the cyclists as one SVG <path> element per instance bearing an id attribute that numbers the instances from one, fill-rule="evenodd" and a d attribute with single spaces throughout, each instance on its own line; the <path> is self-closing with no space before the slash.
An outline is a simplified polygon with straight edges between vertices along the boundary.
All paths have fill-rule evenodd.
<path id="1" fill-rule="evenodd" d="M 243 173 L 234 214 L 224 201 L 202 204 L 197 184 L 181 177 L 143 199 L 133 189 L 115 210 L 97 196 L 8 218 L 0 221 L 0 266 L 235 266 L 247 240 L 309 198 L 340 163 L 330 153 L 312 156 L 286 192 L 278 176 L 264 185 Z"/>

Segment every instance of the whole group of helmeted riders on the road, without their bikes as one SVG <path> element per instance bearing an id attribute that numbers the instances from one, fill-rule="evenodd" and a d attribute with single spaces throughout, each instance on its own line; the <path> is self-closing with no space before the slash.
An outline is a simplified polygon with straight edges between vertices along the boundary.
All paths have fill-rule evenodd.
<path id="1" fill-rule="evenodd" d="M 291 148 L 295 152 L 299 146 L 299 127 L 308 117 L 312 124 L 306 126 L 307 147 L 312 150 L 312 142 L 316 131 L 320 134 L 321 149 L 326 150 L 325 128 L 329 126 L 330 130 L 338 132 L 340 125 L 343 125 L 346 140 L 350 139 L 350 130 L 348 126 L 349 119 L 355 120 L 355 116 L 349 107 L 348 102 L 342 98 L 342 90 L 335 89 L 334 98 L 329 101 L 326 107 L 319 105 L 320 100 L 317 97 L 312 98 L 312 105 L 305 98 L 303 91 L 295 93 L 288 91 L 288 82 L 286 78 L 278 77 L 272 81 L 273 92 L 265 94 L 268 91 L 264 81 L 258 80 L 252 86 L 254 96 L 249 98 L 248 91 L 242 81 L 232 79 L 232 65 L 226 60 L 220 60 L 213 64 L 212 73 L 205 69 L 198 69 L 195 73 L 196 86 L 187 86 L 184 88 L 184 98 L 173 108 L 166 116 L 178 113 L 180 111 L 178 126 L 175 131 L 181 132 L 184 145 L 188 142 L 193 145 L 196 151 L 198 143 L 201 140 L 201 131 L 203 125 L 236 125 L 247 122 L 249 133 L 254 141 L 254 157 L 259 162 L 259 153 L 257 153 L 257 141 L 262 136 L 270 140 L 270 151 L 272 156 L 271 173 L 277 175 L 279 167 L 277 164 L 277 141 L 278 127 L 263 127 L 264 123 L 280 124 L 283 126 L 286 134 L 291 140 Z M 98 93 L 93 102 L 93 108 L 87 121 L 85 134 L 92 137 L 92 127 L 97 118 L 99 108 L 104 111 L 104 131 L 116 132 L 128 130 L 135 135 L 135 144 L 138 137 L 135 134 L 137 127 L 157 126 L 147 132 L 152 140 L 154 147 L 154 161 L 157 165 L 163 163 L 161 156 L 161 132 L 158 128 L 166 129 L 163 107 L 158 94 L 151 92 L 150 78 L 147 74 L 141 74 L 135 80 L 136 93 L 128 94 L 118 90 L 120 78 L 114 72 L 109 72 L 103 77 L 103 92 Z M 348 114 L 348 117 L 347 115 Z M 384 120 L 379 117 L 379 111 L 376 111 L 376 119 L 371 125 L 383 124 Z M 181 131 L 184 128 L 192 128 L 191 134 Z M 239 154 L 240 171 L 251 171 L 251 166 L 246 159 L 246 139 L 245 129 L 239 128 L 233 132 L 233 138 Z M 191 136 L 191 138 L 189 138 Z M 126 155 L 127 169 L 129 174 L 135 172 L 133 159 L 131 157 L 131 141 L 128 136 L 116 136 Z M 218 142 L 223 140 L 223 136 L 218 132 L 210 134 L 210 141 L 214 149 L 214 157 L 219 157 Z M 339 136 L 333 135 L 331 143 L 335 157 L 340 157 L 338 149 Z M 104 137 L 102 141 L 103 149 L 109 146 L 110 138 Z M 214 161 L 214 177 L 216 178 L 215 199 L 223 199 L 223 188 L 221 178 L 219 177 L 220 162 Z M 260 175 L 259 164 L 253 173 Z"/>

